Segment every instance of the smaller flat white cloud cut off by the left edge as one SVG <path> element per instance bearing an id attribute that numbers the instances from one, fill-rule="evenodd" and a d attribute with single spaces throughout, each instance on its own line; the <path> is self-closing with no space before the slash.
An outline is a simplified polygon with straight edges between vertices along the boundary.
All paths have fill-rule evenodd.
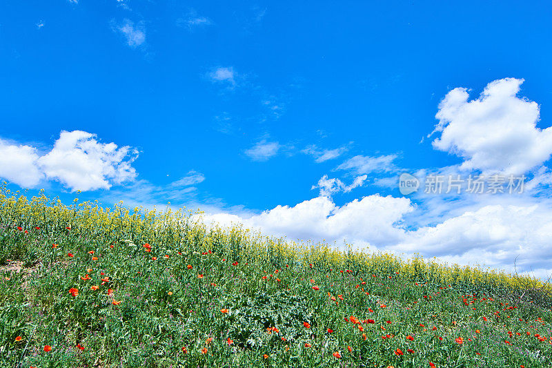
<path id="1" fill-rule="evenodd" d="M 38 158 L 36 148 L 0 139 L 0 177 L 26 188 L 37 186 L 43 177 Z"/>

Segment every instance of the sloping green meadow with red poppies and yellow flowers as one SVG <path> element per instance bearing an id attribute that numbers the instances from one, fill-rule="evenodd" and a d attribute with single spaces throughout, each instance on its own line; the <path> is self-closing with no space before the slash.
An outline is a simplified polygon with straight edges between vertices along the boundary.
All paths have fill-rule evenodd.
<path id="1" fill-rule="evenodd" d="M 551 367 L 531 278 L 0 190 L 1 367 Z"/>

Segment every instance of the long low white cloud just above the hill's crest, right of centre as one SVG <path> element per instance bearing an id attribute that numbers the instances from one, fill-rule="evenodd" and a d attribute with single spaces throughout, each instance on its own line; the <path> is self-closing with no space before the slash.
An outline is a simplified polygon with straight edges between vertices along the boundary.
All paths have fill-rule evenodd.
<path id="1" fill-rule="evenodd" d="M 207 222 L 239 222 L 271 235 L 292 239 L 359 244 L 393 244 L 402 239 L 396 226 L 413 211 L 407 198 L 370 195 L 337 206 L 329 197 L 316 197 L 295 206 L 276 206 L 247 219 L 227 213 L 206 215 Z"/>

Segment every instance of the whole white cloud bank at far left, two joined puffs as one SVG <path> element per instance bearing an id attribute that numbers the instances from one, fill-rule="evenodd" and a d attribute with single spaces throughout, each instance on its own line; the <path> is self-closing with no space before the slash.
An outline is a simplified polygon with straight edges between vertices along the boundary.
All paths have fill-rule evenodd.
<path id="1" fill-rule="evenodd" d="M 135 179 L 131 164 L 136 157 L 130 146 L 100 143 L 95 135 L 81 130 L 62 131 L 45 155 L 32 146 L 0 140 L 0 176 L 30 188 L 47 179 L 71 191 L 109 189 Z"/>

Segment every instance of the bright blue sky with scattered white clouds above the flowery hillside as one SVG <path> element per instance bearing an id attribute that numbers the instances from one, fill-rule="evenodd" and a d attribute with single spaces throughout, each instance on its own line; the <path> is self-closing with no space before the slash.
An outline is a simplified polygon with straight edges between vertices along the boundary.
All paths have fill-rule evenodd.
<path id="1" fill-rule="evenodd" d="M 106 205 L 170 201 L 335 246 L 504 269 L 519 254 L 542 277 L 549 12 L 544 1 L 5 1 L 0 177 L 66 201 L 78 189 Z M 422 180 L 416 193 L 400 193 L 405 172 Z M 429 195 L 428 173 L 531 184 Z"/>

